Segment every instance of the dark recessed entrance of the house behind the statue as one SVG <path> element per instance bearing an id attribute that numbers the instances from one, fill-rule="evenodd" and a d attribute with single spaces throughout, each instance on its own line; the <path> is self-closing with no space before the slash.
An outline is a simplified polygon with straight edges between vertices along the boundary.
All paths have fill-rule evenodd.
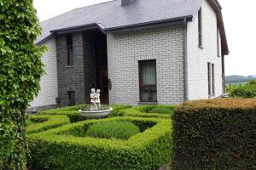
<path id="1" fill-rule="evenodd" d="M 108 104 L 107 36 L 97 30 L 86 31 L 83 37 L 85 99 L 89 103 L 90 88 L 96 88 L 101 90 L 102 104 Z"/>

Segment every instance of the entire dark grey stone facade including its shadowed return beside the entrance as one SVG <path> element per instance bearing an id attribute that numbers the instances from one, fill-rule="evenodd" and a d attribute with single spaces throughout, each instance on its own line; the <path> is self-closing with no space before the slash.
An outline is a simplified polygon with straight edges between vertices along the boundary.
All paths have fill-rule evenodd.
<path id="1" fill-rule="evenodd" d="M 68 91 L 75 92 L 76 104 L 90 103 L 90 88 L 95 87 L 94 34 L 75 32 L 73 65 L 67 65 L 67 36 L 56 36 L 58 94 L 60 105 L 68 105 Z"/>

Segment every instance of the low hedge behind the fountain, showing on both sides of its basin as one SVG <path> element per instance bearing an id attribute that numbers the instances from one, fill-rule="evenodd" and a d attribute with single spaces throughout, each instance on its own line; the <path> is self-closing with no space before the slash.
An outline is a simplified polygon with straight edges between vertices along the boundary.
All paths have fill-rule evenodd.
<path id="1" fill-rule="evenodd" d="M 47 111 L 40 111 L 39 115 L 66 115 L 69 117 L 70 122 L 80 122 L 84 121 L 84 117 L 81 116 L 79 110 L 83 107 L 90 106 L 90 105 L 73 105 L 68 107 L 63 107 L 61 109 L 52 109 Z M 116 116 L 119 114 L 119 111 L 131 108 L 131 105 L 111 105 L 113 108 L 112 116 Z"/>

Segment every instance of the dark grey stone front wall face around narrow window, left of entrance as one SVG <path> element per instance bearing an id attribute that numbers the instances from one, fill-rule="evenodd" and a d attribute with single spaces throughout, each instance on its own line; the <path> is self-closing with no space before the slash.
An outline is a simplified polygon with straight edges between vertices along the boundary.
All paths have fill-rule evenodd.
<path id="1" fill-rule="evenodd" d="M 73 66 L 67 66 L 66 35 L 57 35 L 56 42 L 58 89 L 61 105 L 68 105 L 68 91 L 75 91 L 76 103 L 84 103 L 84 56 L 82 33 L 73 33 Z"/>

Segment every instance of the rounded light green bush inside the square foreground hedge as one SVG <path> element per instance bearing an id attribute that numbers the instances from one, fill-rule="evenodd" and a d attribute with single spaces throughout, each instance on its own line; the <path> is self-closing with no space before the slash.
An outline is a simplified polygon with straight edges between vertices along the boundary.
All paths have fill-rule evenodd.
<path id="1" fill-rule="evenodd" d="M 100 122 L 86 131 L 87 136 L 105 139 L 129 139 L 137 133 L 140 129 L 132 122 Z"/>

